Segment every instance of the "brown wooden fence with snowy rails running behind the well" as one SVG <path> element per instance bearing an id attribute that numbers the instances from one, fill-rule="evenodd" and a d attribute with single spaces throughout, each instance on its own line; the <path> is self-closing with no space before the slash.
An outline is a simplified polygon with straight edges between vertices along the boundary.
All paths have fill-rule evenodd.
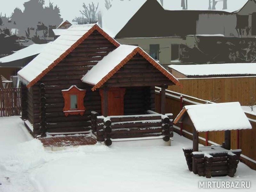
<path id="1" fill-rule="evenodd" d="M 156 112 L 160 111 L 160 88 L 156 88 Z M 181 108 L 185 105 L 212 103 L 211 101 L 201 100 L 195 97 L 181 93 L 166 90 L 166 113 L 173 113 L 173 119 L 180 113 Z M 231 131 L 231 148 L 242 149 L 241 161 L 252 169 L 256 170 L 256 116 L 245 113 L 252 124 L 250 130 Z M 192 127 L 187 124 L 173 125 L 174 132 L 182 134 L 192 140 Z M 199 143 L 206 145 L 206 133 L 199 133 Z M 208 132 L 209 145 L 222 145 L 224 141 L 224 131 Z M 187 147 L 187 146 L 184 146 Z"/>

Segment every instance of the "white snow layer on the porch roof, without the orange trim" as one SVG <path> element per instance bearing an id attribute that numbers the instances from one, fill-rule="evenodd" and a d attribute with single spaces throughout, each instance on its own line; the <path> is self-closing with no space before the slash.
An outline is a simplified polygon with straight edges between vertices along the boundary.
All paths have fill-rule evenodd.
<path id="1" fill-rule="evenodd" d="M 103 78 L 108 76 L 108 74 L 111 71 L 113 71 L 118 65 L 120 65 L 121 62 L 127 58 L 128 55 L 132 54 L 134 51 L 136 51 L 138 49 L 140 51 L 143 51 L 138 46 L 120 45 L 114 51 L 108 53 L 108 55 L 103 57 L 103 59 L 100 60 L 95 66 L 93 66 L 93 68 L 90 71 L 88 71 L 81 78 L 81 80 L 84 83 L 91 84 L 91 85 L 98 84 Z M 147 54 L 146 52 L 144 52 L 144 53 Z M 148 57 L 150 57 L 150 56 L 148 55 Z M 164 69 L 155 60 L 154 60 L 154 64 L 161 67 L 161 69 L 164 70 L 164 72 L 166 72 L 166 74 L 171 76 L 175 80 L 175 82 L 174 82 L 175 84 L 178 82 L 178 80 L 174 76 L 172 76 L 171 73 L 169 73 L 166 69 Z"/>

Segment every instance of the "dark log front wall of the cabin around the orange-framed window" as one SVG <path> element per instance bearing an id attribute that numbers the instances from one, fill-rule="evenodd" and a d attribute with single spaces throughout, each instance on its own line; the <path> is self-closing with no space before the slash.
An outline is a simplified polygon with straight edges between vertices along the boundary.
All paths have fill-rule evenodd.
<path id="1" fill-rule="evenodd" d="M 40 83 L 45 85 L 48 132 L 78 132 L 91 129 L 90 113 L 92 110 L 101 113 L 101 98 L 98 91 L 92 92 L 92 87 L 84 84 L 80 79 L 115 48 L 113 44 L 95 31 L 32 87 L 35 112 L 34 132 L 39 131 Z M 83 116 L 69 115 L 66 117 L 63 113 L 64 99 L 61 90 L 68 89 L 71 85 L 86 90 L 84 97 L 86 109 Z"/>

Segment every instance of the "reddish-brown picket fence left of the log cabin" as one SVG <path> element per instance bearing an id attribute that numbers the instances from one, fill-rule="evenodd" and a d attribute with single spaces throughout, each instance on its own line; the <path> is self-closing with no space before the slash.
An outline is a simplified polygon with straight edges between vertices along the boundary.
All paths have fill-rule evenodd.
<path id="1" fill-rule="evenodd" d="M 20 115 L 20 88 L 0 89 L 0 117 Z"/>

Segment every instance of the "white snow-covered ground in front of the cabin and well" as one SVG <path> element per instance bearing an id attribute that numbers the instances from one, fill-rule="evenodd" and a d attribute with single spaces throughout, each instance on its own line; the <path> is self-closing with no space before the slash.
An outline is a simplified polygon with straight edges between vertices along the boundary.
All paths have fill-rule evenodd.
<path id="1" fill-rule="evenodd" d="M 30 137 L 17 116 L 0 118 L 0 131 L 1 192 L 197 191 L 199 181 L 222 180 L 248 180 L 251 188 L 243 190 L 256 189 L 256 171 L 243 163 L 234 178 L 206 179 L 189 172 L 182 147 L 192 146 L 192 141 L 177 134 L 171 147 L 113 142 L 110 148 L 95 145 L 50 151 Z"/>

